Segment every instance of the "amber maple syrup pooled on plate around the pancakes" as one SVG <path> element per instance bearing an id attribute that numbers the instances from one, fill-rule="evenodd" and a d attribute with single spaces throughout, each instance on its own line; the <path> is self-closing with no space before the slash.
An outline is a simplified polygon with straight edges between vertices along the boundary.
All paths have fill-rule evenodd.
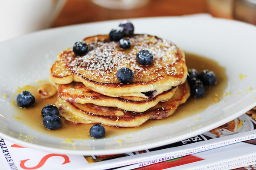
<path id="1" fill-rule="evenodd" d="M 217 85 L 212 87 L 205 87 L 205 96 L 203 98 L 190 98 L 186 103 L 179 106 L 176 112 L 168 118 L 161 120 L 148 120 L 143 125 L 136 128 L 117 128 L 104 125 L 106 129 L 105 138 L 117 136 L 117 135 L 126 135 L 128 133 L 138 132 L 139 130 L 149 128 L 151 126 L 169 124 L 174 121 L 179 121 L 185 117 L 195 115 L 198 112 L 201 112 L 203 109 L 207 108 L 214 103 L 219 102 L 223 96 L 223 92 L 227 86 L 227 76 L 225 73 L 225 68 L 220 66 L 216 61 L 213 61 L 208 58 L 204 58 L 198 55 L 186 53 L 186 64 L 187 68 L 195 68 L 199 73 L 203 69 L 208 69 L 213 71 L 217 77 Z M 49 99 L 41 99 L 37 93 L 37 87 L 26 86 L 27 89 L 32 93 L 35 98 L 35 104 L 28 109 L 19 108 L 17 105 L 17 121 L 21 121 L 32 129 L 35 129 L 38 132 L 41 132 L 46 135 L 52 135 L 55 137 L 65 139 L 86 139 L 91 138 L 89 134 L 89 129 L 92 124 L 74 124 L 72 122 L 66 121 L 62 118 L 62 127 L 57 130 L 47 130 L 43 126 L 43 117 L 41 115 L 41 110 L 47 104 L 54 104 L 56 102 L 57 95 Z"/>

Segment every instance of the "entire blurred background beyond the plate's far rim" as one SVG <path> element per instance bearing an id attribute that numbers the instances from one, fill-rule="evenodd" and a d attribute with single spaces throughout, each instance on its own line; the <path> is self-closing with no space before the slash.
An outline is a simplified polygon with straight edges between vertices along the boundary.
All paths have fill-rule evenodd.
<path id="1" fill-rule="evenodd" d="M 256 0 L 0 0 L 0 42 L 60 26 L 200 13 L 256 25 Z"/>

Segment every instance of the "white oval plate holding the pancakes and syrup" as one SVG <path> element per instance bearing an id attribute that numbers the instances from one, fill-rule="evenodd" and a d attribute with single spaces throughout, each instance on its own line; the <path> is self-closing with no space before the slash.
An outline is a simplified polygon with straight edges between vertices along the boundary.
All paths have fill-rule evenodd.
<path id="1" fill-rule="evenodd" d="M 135 33 L 167 38 L 184 51 L 214 59 L 226 67 L 229 96 L 197 115 L 141 132 L 104 139 L 75 141 L 74 147 L 63 139 L 36 132 L 14 119 L 10 101 L 16 100 L 17 86 L 45 80 L 59 51 L 72 47 L 86 36 L 108 34 L 120 21 L 95 22 L 32 33 L 0 43 L 0 136 L 17 144 L 65 154 L 116 154 L 158 147 L 206 132 L 242 115 L 256 106 L 256 27 L 226 19 L 194 17 L 160 17 L 131 19 Z M 246 77 L 239 79 L 239 75 Z M 252 90 L 249 88 L 252 87 Z M 245 92 L 246 90 L 246 92 Z M 243 93 L 241 93 L 243 91 Z M 7 94 L 4 98 L 2 94 Z M 240 93 L 240 95 L 237 95 Z M 197 120 L 195 118 L 200 118 Z M 30 135 L 29 141 L 19 139 Z M 126 136 L 126 135 L 125 135 Z M 126 138 L 127 139 L 127 138 Z"/>

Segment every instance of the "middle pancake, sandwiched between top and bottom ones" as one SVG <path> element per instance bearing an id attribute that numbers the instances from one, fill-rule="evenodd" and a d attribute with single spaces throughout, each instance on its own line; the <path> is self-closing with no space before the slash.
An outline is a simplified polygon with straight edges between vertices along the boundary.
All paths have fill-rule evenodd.
<path id="1" fill-rule="evenodd" d="M 144 112 L 154 107 L 158 102 L 171 99 L 177 88 L 165 91 L 151 99 L 141 97 L 110 97 L 87 88 L 83 83 L 69 83 L 58 85 L 59 97 L 70 103 L 92 103 L 98 106 L 117 107 L 126 111 Z"/>

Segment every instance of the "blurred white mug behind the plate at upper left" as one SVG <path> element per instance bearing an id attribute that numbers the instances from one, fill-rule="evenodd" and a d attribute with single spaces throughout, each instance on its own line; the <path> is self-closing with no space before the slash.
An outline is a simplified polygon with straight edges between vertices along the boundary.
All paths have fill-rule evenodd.
<path id="1" fill-rule="evenodd" d="M 0 0 L 0 42 L 47 29 L 66 0 Z"/>

